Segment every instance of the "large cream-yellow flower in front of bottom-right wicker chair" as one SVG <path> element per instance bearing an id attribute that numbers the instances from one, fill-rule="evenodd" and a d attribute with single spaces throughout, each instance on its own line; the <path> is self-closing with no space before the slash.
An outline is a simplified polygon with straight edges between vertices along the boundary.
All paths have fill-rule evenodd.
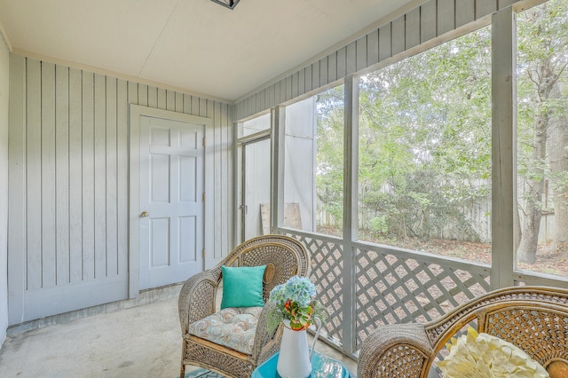
<path id="1" fill-rule="evenodd" d="M 498 337 L 477 334 L 473 327 L 467 335 L 452 338 L 446 347 L 450 354 L 438 363 L 445 378 L 548 377 L 544 367 L 525 351 Z"/>

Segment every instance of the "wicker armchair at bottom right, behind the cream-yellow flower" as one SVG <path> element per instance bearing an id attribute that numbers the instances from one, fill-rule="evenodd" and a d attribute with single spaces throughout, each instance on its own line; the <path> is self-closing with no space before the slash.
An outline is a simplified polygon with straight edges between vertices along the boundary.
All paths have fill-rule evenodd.
<path id="1" fill-rule="evenodd" d="M 556 287 L 494 290 L 426 324 L 378 327 L 363 341 L 357 374 L 428 377 L 438 352 L 475 320 L 479 333 L 517 345 L 552 378 L 568 377 L 568 290 Z"/>

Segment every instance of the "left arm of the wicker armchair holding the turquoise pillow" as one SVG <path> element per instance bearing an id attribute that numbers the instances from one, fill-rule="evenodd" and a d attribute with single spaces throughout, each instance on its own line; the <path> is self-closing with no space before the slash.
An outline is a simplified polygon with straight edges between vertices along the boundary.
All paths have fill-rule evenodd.
<path id="1" fill-rule="evenodd" d="M 194 321 L 215 312 L 215 297 L 219 286 L 219 275 L 213 270 L 195 274 L 185 281 L 179 291 L 177 309 L 182 335 Z"/>

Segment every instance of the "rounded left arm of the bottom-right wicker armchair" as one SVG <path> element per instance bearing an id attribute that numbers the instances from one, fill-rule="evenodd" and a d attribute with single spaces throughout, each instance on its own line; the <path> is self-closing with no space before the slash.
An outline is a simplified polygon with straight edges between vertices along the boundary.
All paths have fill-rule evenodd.
<path id="1" fill-rule="evenodd" d="M 358 377 L 420 377 L 433 353 L 419 323 L 378 327 L 359 351 Z"/>

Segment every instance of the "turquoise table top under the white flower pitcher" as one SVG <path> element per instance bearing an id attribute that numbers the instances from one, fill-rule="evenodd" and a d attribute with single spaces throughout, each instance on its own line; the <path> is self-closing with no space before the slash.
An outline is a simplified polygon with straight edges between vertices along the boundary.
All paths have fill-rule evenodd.
<path id="1" fill-rule="evenodd" d="M 276 373 L 278 353 L 268 358 L 252 372 L 252 378 L 279 378 Z M 312 356 L 312 378 L 350 378 L 349 370 L 340 361 L 327 357 L 318 351 Z"/>

